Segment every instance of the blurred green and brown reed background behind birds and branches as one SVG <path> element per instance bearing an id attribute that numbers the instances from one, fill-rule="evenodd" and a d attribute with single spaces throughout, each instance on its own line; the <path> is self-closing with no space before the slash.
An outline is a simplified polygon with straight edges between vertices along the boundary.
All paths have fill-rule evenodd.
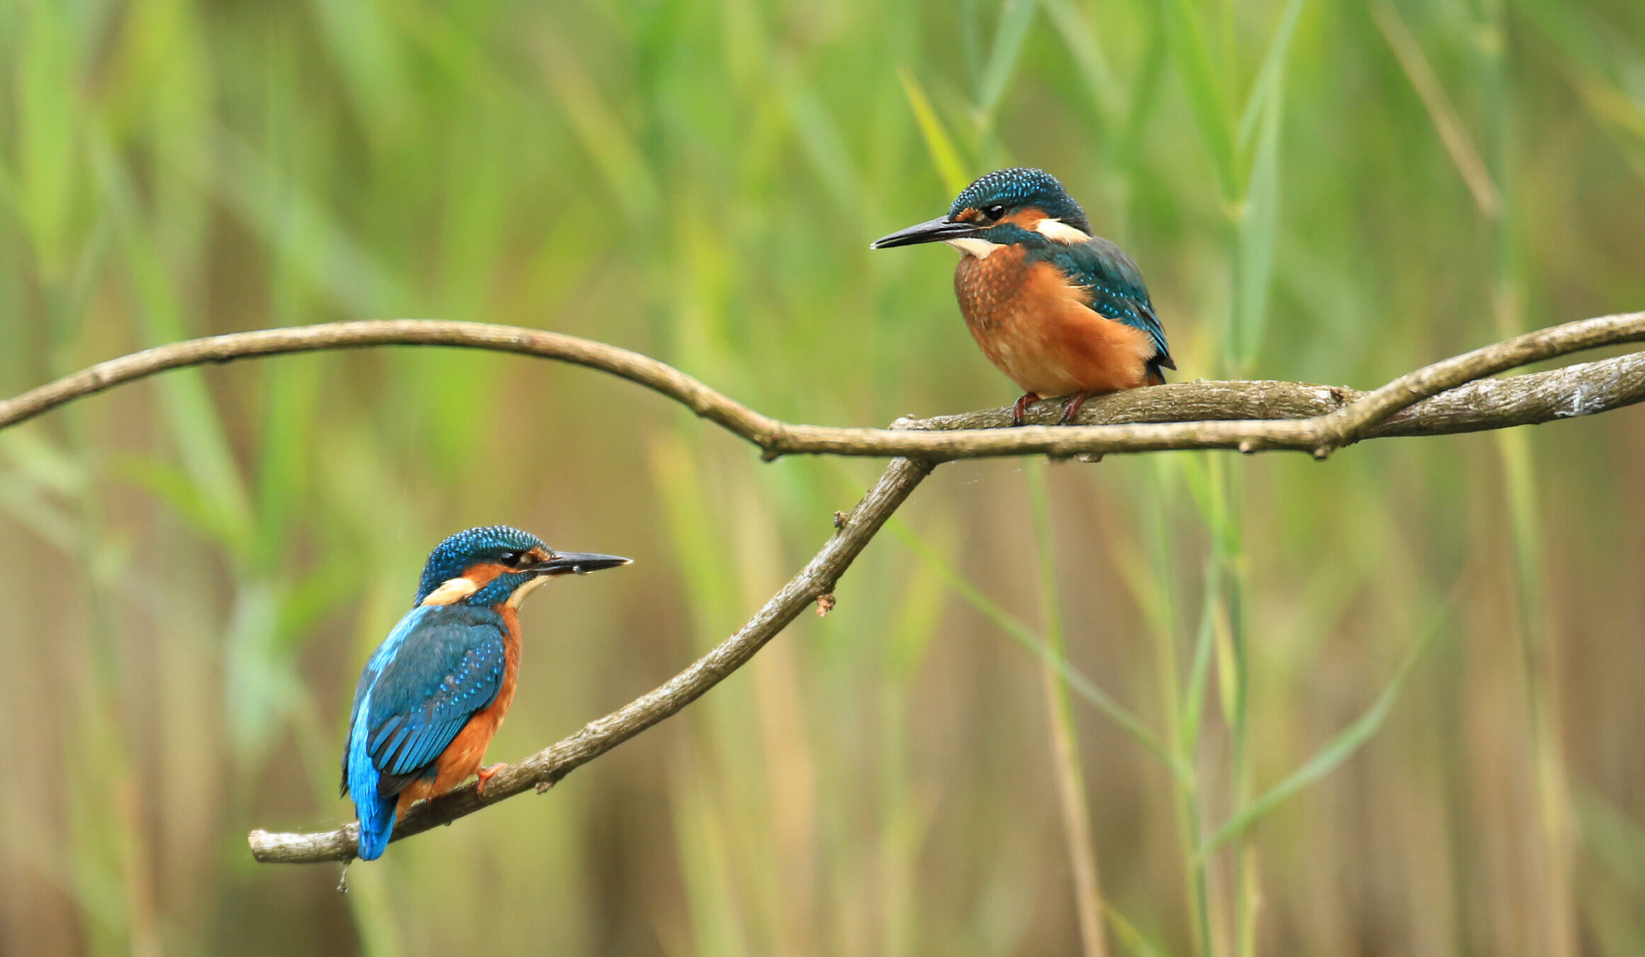
<path id="1" fill-rule="evenodd" d="M 997 406 L 952 255 L 867 243 L 1007 164 L 1137 257 L 1179 378 L 1369 388 L 1645 307 L 1645 7 L 0 0 L 0 393 L 424 316 L 791 421 Z M 510 761 L 729 635 L 877 469 L 415 349 L 0 434 L 0 950 L 1645 954 L 1638 411 L 946 465 L 832 615 L 551 794 L 347 896 L 250 860 L 352 816 L 349 694 L 444 534 L 638 559 L 528 607 Z"/>

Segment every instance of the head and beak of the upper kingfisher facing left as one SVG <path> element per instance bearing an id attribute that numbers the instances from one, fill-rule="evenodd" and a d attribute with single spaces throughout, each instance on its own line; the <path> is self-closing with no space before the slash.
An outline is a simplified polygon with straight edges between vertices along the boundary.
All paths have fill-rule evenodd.
<path id="1" fill-rule="evenodd" d="M 873 240 L 872 248 L 946 242 L 987 258 L 1005 245 L 1043 247 L 1091 238 L 1086 210 L 1045 169 L 995 169 L 967 186 L 948 215 Z"/>

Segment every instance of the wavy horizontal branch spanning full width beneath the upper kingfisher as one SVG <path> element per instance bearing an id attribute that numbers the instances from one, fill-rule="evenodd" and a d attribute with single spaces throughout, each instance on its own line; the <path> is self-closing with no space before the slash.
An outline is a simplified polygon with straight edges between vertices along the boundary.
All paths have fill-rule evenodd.
<path id="1" fill-rule="evenodd" d="M 1531 362 L 1556 358 L 1601 345 L 1640 340 L 1645 340 L 1645 312 L 1627 312 L 1528 332 L 1495 345 L 1436 362 L 1369 393 L 1306 383 L 1191 381 L 1132 390 L 1128 393 L 1104 396 L 1104 401 L 1087 403 L 1087 411 L 1081 416 L 1081 424 L 1102 424 L 1102 428 L 1023 426 L 1020 429 L 999 429 L 992 428 L 1003 424 L 997 418 L 999 413 L 982 413 L 994 416 L 989 419 L 990 428 L 975 428 L 972 424 L 924 424 L 921 428 L 920 423 L 905 423 L 901 429 L 842 429 L 799 426 L 763 416 L 655 358 L 574 335 L 479 322 L 390 319 L 234 332 L 158 345 L 97 363 L 0 403 L 0 429 L 38 416 L 66 401 L 168 368 L 324 349 L 454 345 L 556 358 L 609 372 L 666 395 L 696 414 L 748 439 L 763 451 L 767 459 L 795 454 L 827 454 L 869 457 L 906 455 L 928 462 L 946 462 L 990 455 L 1045 454 L 1071 457 L 1163 449 L 1239 449 L 1242 452 L 1300 449 L 1323 459 L 1334 449 L 1380 434 L 1438 434 L 1563 418 L 1558 408 L 1558 396 L 1545 403 L 1548 418 L 1522 419 L 1523 413 L 1513 411 L 1512 406 L 1523 401 L 1522 393 L 1536 390 L 1536 385 L 1513 386 L 1499 383 L 1492 386 L 1490 383 L 1479 383 L 1476 391 L 1467 396 L 1471 401 L 1497 403 L 1502 400 L 1505 405 L 1485 409 L 1479 405 L 1457 406 L 1456 401 L 1439 403 L 1416 416 L 1426 423 L 1416 432 L 1390 431 L 1397 421 L 1395 416 L 1416 403 L 1423 403 L 1423 400 L 1439 396 L 1446 390 L 1454 390 L 1456 386 Z M 1576 383 L 1578 391 L 1564 396 L 1581 406 L 1581 413 L 1602 411 L 1604 408 L 1640 401 L 1637 390 L 1630 391 L 1632 386 L 1607 385 L 1609 380 L 1606 377 L 1612 375 L 1615 368 L 1599 367 L 1602 363 L 1589 363 L 1587 372 L 1596 377 L 1594 381 L 1581 380 Z M 1633 367 L 1625 368 L 1629 375 L 1633 373 Z M 1561 381 L 1569 383 L 1569 380 Z M 1589 385 L 1596 391 L 1587 391 Z M 1252 388 L 1263 400 L 1258 403 L 1263 406 L 1263 414 L 1247 418 L 1230 416 L 1229 413 L 1239 406 L 1226 405 L 1227 400 L 1250 396 Z M 1321 398 L 1324 395 L 1321 390 L 1329 391 L 1332 398 Z M 1499 395 L 1499 390 L 1505 391 Z M 1596 405 L 1601 400 L 1592 396 L 1599 393 L 1614 395 L 1615 401 L 1610 401 L 1610 405 Z M 1336 401 L 1336 405 L 1331 406 L 1331 401 Z M 1323 406 L 1321 403 L 1326 405 Z M 1308 411 L 1313 408 L 1323 408 L 1324 411 Z M 1120 418 L 1105 418 L 1115 414 Z M 936 421 L 939 419 L 931 419 L 931 423 Z M 941 421 L 948 423 L 954 419 Z M 1043 409 L 1036 421 L 1045 421 Z M 1388 428 L 1383 428 L 1383 424 Z"/>

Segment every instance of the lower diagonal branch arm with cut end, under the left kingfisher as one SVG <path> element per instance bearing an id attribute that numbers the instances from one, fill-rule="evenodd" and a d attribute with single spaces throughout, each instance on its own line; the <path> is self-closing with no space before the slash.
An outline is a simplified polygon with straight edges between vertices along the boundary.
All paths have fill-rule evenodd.
<path id="1" fill-rule="evenodd" d="M 696 659 L 691 668 L 671 677 L 666 684 L 645 694 L 622 709 L 582 725 L 582 730 L 549 745 L 530 758 L 508 765 L 485 784 L 485 794 L 472 784 L 423 801 L 395 824 L 393 840 L 421 834 L 439 824 L 474 814 L 528 789 L 546 791 L 581 765 L 592 761 L 645 728 L 676 714 L 742 668 L 753 653 L 765 646 L 778 631 L 788 626 L 799 612 L 813 602 L 819 610 L 832 607 L 834 584 L 846 574 L 850 562 L 880 531 L 885 520 L 908 500 L 915 487 L 931 474 L 931 465 L 910 459 L 893 459 L 849 513 L 834 518 L 834 538 L 822 546 L 804 569 L 783 585 L 748 623 L 735 635 L 719 643 L 712 651 Z M 326 834 L 268 834 L 253 830 L 248 837 L 252 857 L 263 863 L 319 863 L 349 860 L 359 847 L 359 825 L 349 824 Z"/>

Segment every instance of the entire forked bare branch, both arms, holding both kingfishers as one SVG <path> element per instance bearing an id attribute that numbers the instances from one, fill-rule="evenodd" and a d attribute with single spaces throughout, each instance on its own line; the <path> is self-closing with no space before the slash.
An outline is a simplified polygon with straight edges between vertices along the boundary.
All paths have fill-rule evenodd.
<path id="1" fill-rule="evenodd" d="M 1645 312 L 1568 322 L 1436 362 L 1360 393 L 1293 381 L 1189 381 L 1097 396 L 1081 426 L 1050 426 L 1056 403 L 1038 403 L 1030 423 L 1010 424 L 1010 409 L 933 419 L 900 419 L 892 429 L 801 426 L 763 416 L 655 358 L 558 332 L 443 321 L 332 322 L 235 332 L 160 345 L 97 363 L 0 403 L 0 429 L 63 403 L 169 368 L 258 355 L 368 345 L 449 345 L 554 358 L 597 368 L 670 396 L 696 414 L 748 439 L 767 459 L 793 454 L 892 457 L 880 480 L 836 534 L 781 592 L 735 635 L 650 694 L 500 771 L 480 796 L 459 788 L 415 806 L 395 840 L 520 794 L 548 789 L 574 768 L 668 719 L 747 663 L 767 641 L 818 602 L 832 605 L 834 584 L 885 520 L 931 469 L 952 459 L 1045 454 L 1099 457 L 1163 449 L 1300 449 L 1326 457 L 1383 436 L 1436 436 L 1546 423 L 1645 400 L 1645 352 L 1505 380 L 1487 377 L 1584 349 L 1645 340 Z M 326 834 L 250 834 L 260 862 L 349 860 L 354 824 Z"/>

